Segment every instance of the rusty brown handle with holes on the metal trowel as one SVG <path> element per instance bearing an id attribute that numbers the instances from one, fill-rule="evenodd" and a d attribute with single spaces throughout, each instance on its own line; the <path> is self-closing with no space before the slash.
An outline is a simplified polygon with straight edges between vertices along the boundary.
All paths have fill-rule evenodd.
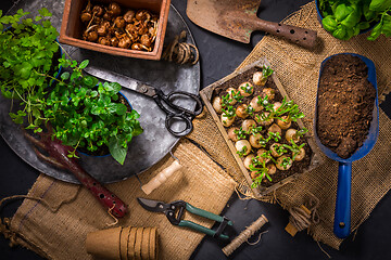
<path id="1" fill-rule="evenodd" d="M 316 44 L 317 32 L 306 28 L 268 22 L 264 20 L 255 20 L 254 30 L 263 30 L 270 35 L 280 36 L 304 48 L 311 49 Z"/>

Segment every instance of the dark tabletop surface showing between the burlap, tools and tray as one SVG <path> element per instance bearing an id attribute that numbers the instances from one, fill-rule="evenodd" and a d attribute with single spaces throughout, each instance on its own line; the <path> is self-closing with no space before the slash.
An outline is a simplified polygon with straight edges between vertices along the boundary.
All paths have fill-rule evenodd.
<path id="1" fill-rule="evenodd" d="M 17 0 L 14 0 L 17 1 Z M 264 0 L 261 3 L 258 16 L 264 20 L 279 22 L 308 0 Z M 255 32 L 251 43 L 244 44 L 204 30 L 186 16 L 186 1 L 172 0 L 188 24 L 201 54 L 201 88 L 232 73 L 250 54 L 253 47 L 262 39 L 263 34 Z M 11 0 L 2 0 L 1 10 L 5 13 L 13 4 Z M 381 107 L 391 115 L 391 98 Z M 38 172 L 25 164 L 7 143 L 0 139 L 0 198 L 15 194 L 27 194 Z M 10 204 L 3 216 L 11 217 L 20 204 Z M 254 246 L 241 246 L 229 259 L 327 259 L 318 244 L 303 231 L 292 238 L 285 226 L 289 213 L 277 205 L 260 203 L 254 199 L 240 200 L 234 194 L 224 210 L 225 214 L 235 221 L 236 230 L 241 231 L 264 213 L 269 223 L 262 230 L 262 240 Z M 341 249 L 335 250 L 321 244 L 332 259 L 391 259 L 391 196 L 387 194 L 375 208 L 369 219 L 353 235 L 342 243 Z M 258 233 L 257 233 L 258 234 Z M 257 237 L 252 237 L 255 242 Z M 1 259 L 41 259 L 38 255 L 21 247 L 10 248 L 8 240 L 0 236 Z M 222 245 L 205 237 L 192 255 L 192 259 L 227 259 L 220 250 Z"/>

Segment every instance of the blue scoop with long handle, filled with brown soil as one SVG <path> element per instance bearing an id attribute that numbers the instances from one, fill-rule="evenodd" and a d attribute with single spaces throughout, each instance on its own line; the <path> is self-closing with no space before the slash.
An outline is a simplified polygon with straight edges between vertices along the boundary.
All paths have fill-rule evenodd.
<path id="1" fill-rule="evenodd" d="M 352 162 L 371 151 L 379 134 L 376 69 L 369 58 L 341 53 L 321 63 L 314 134 L 321 152 L 339 161 L 333 232 L 344 238 L 351 225 Z"/>

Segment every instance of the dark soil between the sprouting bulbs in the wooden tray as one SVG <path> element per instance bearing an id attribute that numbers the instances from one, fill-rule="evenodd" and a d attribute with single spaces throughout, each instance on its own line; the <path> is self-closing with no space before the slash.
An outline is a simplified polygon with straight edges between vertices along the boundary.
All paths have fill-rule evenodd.
<path id="1" fill-rule="evenodd" d="M 223 84 L 218 86 L 217 88 L 214 89 L 214 93 L 213 93 L 213 96 L 219 96 L 222 98 L 223 95 L 226 95 L 227 94 L 227 89 L 228 88 L 238 88 L 238 86 L 240 86 L 241 83 L 245 82 L 245 81 L 250 81 L 252 82 L 252 75 L 255 73 L 255 72 L 262 72 L 262 68 L 252 68 L 252 69 L 249 69 L 247 72 L 244 72 L 243 74 L 240 74 L 238 76 L 236 76 L 235 78 L 224 82 Z M 279 92 L 276 83 L 274 82 L 274 80 L 272 79 L 272 77 L 269 77 L 266 81 L 266 84 L 264 87 L 258 87 L 258 86 L 254 86 L 254 93 L 248 98 L 243 98 L 242 99 L 242 104 L 249 104 L 250 101 L 256 96 L 256 95 L 260 95 L 262 93 L 262 90 L 264 88 L 272 88 L 275 90 L 275 99 L 274 99 L 274 102 L 282 102 L 283 100 L 283 96 L 281 95 L 281 93 Z M 237 106 L 239 105 L 239 103 L 237 103 L 236 105 L 234 105 L 234 108 L 236 109 Z M 248 118 L 250 119 L 250 117 Z M 238 127 L 240 128 L 241 123 L 242 123 L 243 119 L 237 117 L 237 119 L 235 120 L 234 125 L 226 128 L 226 131 L 228 131 L 229 128 L 231 127 Z M 267 128 L 264 128 L 261 132 L 261 134 L 263 136 L 265 136 L 267 134 Z M 292 126 L 290 128 L 294 128 L 294 129 L 298 129 L 300 130 L 300 127 L 298 126 L 297 122 L 292 121 Z M 279 143 L 281 144 L 288 144 L 290 145 L 291 143 L 289 143 L 286 139 L 285 139 L 285 135 L 286 135 L 286 131 L 287 130 L 283 130 L 282 129 L 282 133 L 281 133 L 281 140 L 278 141 Z M 270 145 L 275 143 L 273 140 L 270 140 L 267 144 L 266 144 L 266 147 L 265 150 L 269 150 Z M 306 138 L 302 136 L 300 139 L 300 141 L 298 142 L 298 145 L 301 145 L 303 143 L 306 143 L 306 145 L 304 145 L 304 150 L 305 150 L 305 157 L 304 159 L 302 159 L 301 161 L 294 161 L 292 167 L 288 170 L 279 170 L 277 169 L 276 173 L 270 176 L 272 177 L 272 182 L 268 181 L 266 178 L 262 180 L 262 185 L 265 186 L 265 187 L 269 187 L 276 183 L 279 183 L 280 181 L 282 181 L 283 179 L 294 174 L 294 173 L 303 173 L 305 171 L 307 171 L 310 165 L 311 165 L 311 158 L 312 158 L 312 155 L 313 155 L 313 152 L 308 145 L 308 143 L 306 142 Z M 244 158 L 242 158 L 244 159 Z M 249 171 L 249 174 L 250 174 L 250 171 Z"/>

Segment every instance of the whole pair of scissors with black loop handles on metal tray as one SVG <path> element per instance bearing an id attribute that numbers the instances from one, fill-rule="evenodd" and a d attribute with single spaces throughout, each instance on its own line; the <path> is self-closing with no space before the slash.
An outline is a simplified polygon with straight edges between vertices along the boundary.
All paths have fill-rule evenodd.
<path id="1" fill-rule="evenodd" d="M 164 94 L 162 90 L 148 86 L 137 79 L 113 73 L 104 68 L 88 66 L 84 70 L 97 78 L 110 82 L 118 82 L 122 87 L 152 98 L 157 106 L 166 114 L 165 127 L 175 136 L 185 136 L 193 129 L 191 120 L 201 114 L 202 102 L 199 95 L 185 91 L 173 91 Z M 195 102 L 195 110 L 174 104 L 176 99 L 186 99 Z M 175 129 L 175 122 L 185 123 L 185 128 Z M 178 125 L 177 125 L 178 126 Z"/>

